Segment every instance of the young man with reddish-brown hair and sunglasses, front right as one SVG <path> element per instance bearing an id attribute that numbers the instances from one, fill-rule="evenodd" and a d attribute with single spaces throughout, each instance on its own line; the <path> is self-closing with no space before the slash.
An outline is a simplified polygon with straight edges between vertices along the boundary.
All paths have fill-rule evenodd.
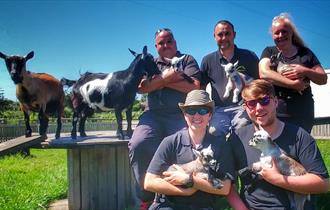
<path id="1" fill-rule="evenodd" d="M 240 173 L 241 198 L 249 209 L 291 209 L 288 191 L 302 194 L 324 193 L 329 189 L 329 175 L 315 140 L 301 127 L 277 118 L 278 99 L 273 85 L 258 79 L 245 86 L 242 91 L 244 108 L 252 124 L 238 129 L 229 137 L 234 154 L 235 168 Z M 301 176 L 280 174 L 273 161 L 272 168 L 263 168 L 259 175 L 246 170 L 259 161 L 261 152 L 248 145 L 255 131 L 260 127 L 291 158 L 300 162 L 307 173 Z M 235 193 L 235 191 L 233 191 Z M 229 198 L 232 196 L 231 193 Z M 313 210 L 311 201 L 305 203 L 305 210 Z"/>

